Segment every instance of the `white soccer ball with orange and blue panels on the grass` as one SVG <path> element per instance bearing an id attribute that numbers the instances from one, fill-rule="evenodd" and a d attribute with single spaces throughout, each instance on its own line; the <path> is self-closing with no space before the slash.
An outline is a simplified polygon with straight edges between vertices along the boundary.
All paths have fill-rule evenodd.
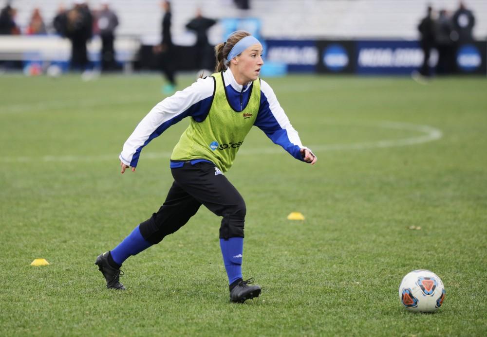
<path id="1" fill-rule="evenodd" d="M 433 312 L 445 301 L 445 286 L 430 270 L 413 270 L 399 285 L 399 300 L 411 311 Z"/>

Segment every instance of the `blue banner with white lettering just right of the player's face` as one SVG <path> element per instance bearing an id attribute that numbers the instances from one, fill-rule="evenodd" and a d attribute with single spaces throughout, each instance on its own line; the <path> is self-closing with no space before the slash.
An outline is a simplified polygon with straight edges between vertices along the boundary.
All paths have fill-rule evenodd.
<path id="1" fill-rule="evenodd" d="M 264 62 L 285 63 L 288 71 L 314 72 L 318 64 L 315 40 L 265 40 Z"/>

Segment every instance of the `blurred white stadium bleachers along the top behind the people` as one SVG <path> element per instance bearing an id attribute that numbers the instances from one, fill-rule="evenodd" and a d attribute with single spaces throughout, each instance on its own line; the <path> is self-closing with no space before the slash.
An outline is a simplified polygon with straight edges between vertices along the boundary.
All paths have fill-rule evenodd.
<path id="1" fill-rule="evenodd" d="M 14 1 L 18 9 L 17 22 L 25 28 L 32 9 L 37 5 L 46 23 L 52 22 L 60 0 Z M 92 9 L 100 0 L 91 0 Z M 118 13 L 118 35 L 135 36 L 143 43 L 157 43 L 160 38 L 162 10 L 159 0 L 116 0 L 112 8 Z M 435 9 L 454 11 L 458 0 L 251 0 L 251 9 L 238 10 L 232 0 L 173 0 L 172 30 L 177 44 L 189 45 L 194 36 L 185 29 L 197 6 L 204 4 L 207 17 L 258 17 L 262 19 L 262 35 L 267 38 L 417 38 L 416 26 L 425 14 L 427 3 Z M 487 1 L 467 0 L 477 23 L 474 35 L 487 35 Z M 66 5 L 69 4 L 65 2 Z M 210 42 L 221 40 L 222 28 L 217 25 L 209 32 Z"/>

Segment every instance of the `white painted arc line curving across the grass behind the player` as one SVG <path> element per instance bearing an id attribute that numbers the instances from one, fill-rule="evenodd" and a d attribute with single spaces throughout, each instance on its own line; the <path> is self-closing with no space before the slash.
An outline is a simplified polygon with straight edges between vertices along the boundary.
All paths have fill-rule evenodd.
<path id="1" fill-rule="evenodd" d="M 408 124 L 398 122 L 383 122 L 379 124 L 371 124 L 370 126 L 377 126 L 386 129 L 406 130 L 421 132 L 422 135 L 391 140 L 379 140 L 373 142 L 358 142 L 352 144 L 322 144 L 309 146 L 313 152 L 325 152 L 325 151 L 339 151 L 339 150 L 365 150 L 372 148 L 385 148 L 395 146 L 408 146 L 421 144 L 426 142 L 433 142 L 441 139 L 443 133 L 441 130 L 429 126 L 419 124 Z M 255 149 L 245 149 L 239 151 L 239 156 L 256 155 L 256 154 L 278 154 L 285 152 L 280 146 L 273 147 L 261 147 Z M 148 152 L 142 153 L 143 159 L 161 159 L 171 156 L 171 152 Z M 99 161 L 99 160 L 117 160 L 118 154 L 113 155 L 97 155 L 97 156 L 43 156 L 43 157 L 6 157 L 3 161 L 7 162 L 30 162 L 30 161 L 42 161 L 42 162 L 56 162 L 56 161 Z"/>

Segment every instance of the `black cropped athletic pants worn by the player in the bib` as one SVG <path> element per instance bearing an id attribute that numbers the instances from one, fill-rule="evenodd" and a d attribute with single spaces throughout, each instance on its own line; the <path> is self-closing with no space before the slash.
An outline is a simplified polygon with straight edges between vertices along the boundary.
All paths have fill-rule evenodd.
<path id="1" fill-rule="evenodd" d="M 244 237 L 245 202 L 242 195 L 214 164 L 186 162 L 172 168 L 174 182 L 157 213 L 140 224 L 144 239 L 159 243 L 166 235 L 183 227 L 203 204 L 223 216 L 220 238 Z"/>

